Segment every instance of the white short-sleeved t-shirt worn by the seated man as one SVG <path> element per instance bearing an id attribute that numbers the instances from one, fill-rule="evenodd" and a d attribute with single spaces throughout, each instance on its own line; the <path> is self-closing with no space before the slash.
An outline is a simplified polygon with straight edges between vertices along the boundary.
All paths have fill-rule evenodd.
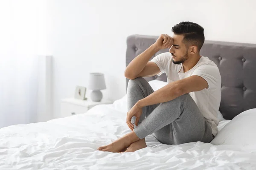
<path id="1" fill-rule="evenodd" d="M 218 66 L 208 57 L 201 57 L 197 64 L 189 71 L 183 71 L 183 64 L 174 64 L 172 55 L 169 52 L 162 53 L 151 59 L 150 61 L 157 64 L 160 68 L 160 76 L 166 73 L 167 83 L 184 79 L 193 75 L 204 78 L 208 83 L 208 88 L 201 91 L 190 92 L 190 96 L 194 99 L 204 118 L 212 127 L 214 136 L 218 133 L 218 109 L 221 103 L 221 75 Z"/>

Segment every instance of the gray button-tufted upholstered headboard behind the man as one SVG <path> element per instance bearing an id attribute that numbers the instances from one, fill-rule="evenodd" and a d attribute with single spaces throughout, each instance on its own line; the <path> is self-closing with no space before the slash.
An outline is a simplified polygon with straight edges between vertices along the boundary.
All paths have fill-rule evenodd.
<path id="1" fill-rule="evenodd" d="M 131 35 L 127 38 L 126 66 L 158 37 Z M 159 51 L 154 56 L 167 52 Z M 221 73 L 221 105 L 219 111 L 225 119 L 256 108 L 256 44 L 205 41 L 200 54 L 214 61 Z M 167 82 L 166 74 L 144 77 Z M 126 79 L 126 88 L 129 79 Z"/>

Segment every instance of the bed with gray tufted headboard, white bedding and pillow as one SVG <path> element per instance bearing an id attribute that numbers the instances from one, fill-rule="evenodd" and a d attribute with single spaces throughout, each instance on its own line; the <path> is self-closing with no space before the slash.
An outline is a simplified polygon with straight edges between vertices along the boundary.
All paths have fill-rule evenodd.
<path id="1" fill-rule="evenodd" d="M 156 39 L 129 36 L 126 65 Z M 125 122 L 125 95 L 83 114 L 1 128 L 0 170 L 256 169 L 255 54 L 255 44 L 206 41 L 201 49 L 201 55 L 218 65 L 222 77 L 221 122 L 211 143 L 167 145 L 148 135 L 147 147 L 134 153 L 97 151 L 131 131 Z M 167 83 L 165 74 L 144 78 L 154 91 Z"/>

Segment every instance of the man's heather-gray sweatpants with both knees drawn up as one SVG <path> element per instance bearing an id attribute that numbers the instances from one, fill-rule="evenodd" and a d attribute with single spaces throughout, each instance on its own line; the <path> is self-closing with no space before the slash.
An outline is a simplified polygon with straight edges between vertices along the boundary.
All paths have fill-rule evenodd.
<path id="1" fill-rule="evenodd" d="M 153 93 L 143 77 L 129 80 L 127 87 L 128 110 L 134 104 Z M 140 139 L 152 134 L 163 144 L 182 144 L 188 142 L 211 142 L 214 136 L 209 123 L 198 109 L 189 94 L 184 94 L 168 102 L 143 107 L 138 126 L 136 117 L 131 123 Z"/>

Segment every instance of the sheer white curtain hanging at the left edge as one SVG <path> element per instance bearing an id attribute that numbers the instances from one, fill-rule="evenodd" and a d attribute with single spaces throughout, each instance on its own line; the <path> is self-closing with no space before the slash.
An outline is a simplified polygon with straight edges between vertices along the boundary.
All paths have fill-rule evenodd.
<path id="1" fill-rule="evenodd" d="M 0 128 L 37 121 L 38 5 L 0 1 Z"/>

